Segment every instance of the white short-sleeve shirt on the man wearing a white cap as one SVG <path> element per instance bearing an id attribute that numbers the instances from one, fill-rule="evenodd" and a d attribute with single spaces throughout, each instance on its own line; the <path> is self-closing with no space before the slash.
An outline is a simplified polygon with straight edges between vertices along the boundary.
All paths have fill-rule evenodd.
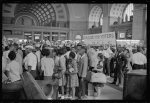
<path id="1" fill-rule="evenodd" d="M 37 57 L 35 54 L 32 52 L 29 53 L 25 58 L 24 58 L 24 64 L 25 64 L 25 69 L 28 70 L 28 66 L 31 66 L 31 70 L 36 70 L 36 65 L 37 65 Z"/>

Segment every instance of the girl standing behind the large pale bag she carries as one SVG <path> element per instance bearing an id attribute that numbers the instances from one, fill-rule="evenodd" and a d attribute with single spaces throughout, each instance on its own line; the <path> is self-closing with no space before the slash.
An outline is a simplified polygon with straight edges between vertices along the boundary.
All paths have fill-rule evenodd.
<path id="1" fill-rule="evenodd" d="M 97 65 L 95 68 L 92 70 L 95 73 L 102 73 L 103 72 L 103 61 L 104 61 L 104 56 L 102 53 L 98 53 L 97 55 Z M 94 86 L 94 95 L 99 97 L 101 94 L 101 88 L 104 86 L 103 83 L 93 83 Z"/>

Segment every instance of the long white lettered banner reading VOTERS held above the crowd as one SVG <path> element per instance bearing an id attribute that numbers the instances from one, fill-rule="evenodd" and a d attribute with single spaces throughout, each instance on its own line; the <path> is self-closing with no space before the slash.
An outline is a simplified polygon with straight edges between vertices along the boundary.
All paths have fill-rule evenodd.
<path id="1" fill-rule="evenodd" d="M 83 35 L 83 40 L 86 45 L 113 45 L 116 46 L 115 32 L 99 33 Z"/>

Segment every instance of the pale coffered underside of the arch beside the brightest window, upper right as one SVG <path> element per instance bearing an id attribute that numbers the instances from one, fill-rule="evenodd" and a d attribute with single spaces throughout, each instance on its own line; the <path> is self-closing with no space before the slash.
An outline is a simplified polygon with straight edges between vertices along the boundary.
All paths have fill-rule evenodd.
<path id="1" fill-rule="evenodd" d="M 123 11 L 128 4 L 112 4 L 110 9 L 110 17 L 121 17 L 123 15 Z"/>

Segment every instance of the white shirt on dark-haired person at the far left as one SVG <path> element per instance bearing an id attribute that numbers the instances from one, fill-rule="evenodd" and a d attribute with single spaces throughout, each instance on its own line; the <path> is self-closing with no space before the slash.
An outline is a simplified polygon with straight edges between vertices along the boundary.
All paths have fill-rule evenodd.
<path id="1" fill-rule="evenodd" d="M 20 80 L 20 65 L 16 61 L 11 61 L 7 67 L 6 70 L 10 73 L 10 79 L 11 82 L 15 82 L 17 80 Z"/>

